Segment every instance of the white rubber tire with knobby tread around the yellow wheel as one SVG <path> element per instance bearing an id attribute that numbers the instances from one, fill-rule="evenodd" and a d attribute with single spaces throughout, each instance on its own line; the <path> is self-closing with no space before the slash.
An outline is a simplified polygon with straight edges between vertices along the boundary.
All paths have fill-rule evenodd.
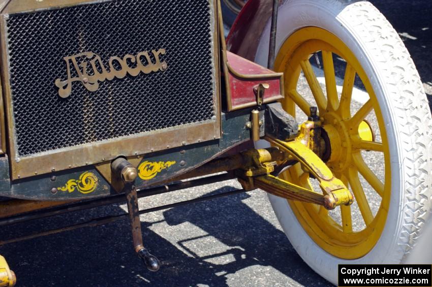
<path id="1" fill-rule="evenodd" d="M 287 200 L 269 196 L 291 244 L 302 259 L 332 283 L 337 264 L 399 264 L 414 247 L 431 209 L 432 120 L 417 70 L 398 34 L 368 2 L 286 0 L 280 7 L 276 49 L 296 30 L 317 26 L 341 39 L 374 87 L 391 158 L 390 208 L 381 238 L 364 257 L 342 260 L 321 249 L 303 230 Z M 256 62 L 266 66 L 269 23 Z"/>

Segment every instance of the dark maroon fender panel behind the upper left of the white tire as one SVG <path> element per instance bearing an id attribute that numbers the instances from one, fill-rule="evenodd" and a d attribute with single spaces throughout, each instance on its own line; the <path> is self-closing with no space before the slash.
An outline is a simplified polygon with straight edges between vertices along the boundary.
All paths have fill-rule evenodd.
<path id="1" fill-rule="evenodd" d="M 258 40 L 271 17 L 271 9 L 272 0 L 249 0 L 231 27 L 227 37 L 227 49 L 253 61 Z"/>

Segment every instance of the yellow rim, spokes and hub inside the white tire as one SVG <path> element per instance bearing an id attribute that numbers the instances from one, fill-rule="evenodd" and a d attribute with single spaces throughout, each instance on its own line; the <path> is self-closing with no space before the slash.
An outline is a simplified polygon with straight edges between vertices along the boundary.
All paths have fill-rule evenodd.
<path id="1" fill-rule="evenodd" d="M 322 58 L 325 89 L 321 87 L 311 65 L 315 53 L 319 53 Z M 336 89 L 334 58 L 346 62 L 340 97 Z M 301 110 L 308 115 L 312 104 L 318 106 L 331 145 L 331 155 L 327 165 L 349 186 L 356 201 L 356 206 L 343 206 L 337 211 L 340 215 L 339 222 L 334 218 L 334 214 L 314 204 L 289 201 L 290 206 L 303 229 L 322 249 L 342 259 L 363 257 L 371 251 L 381 236 L 391 192 L 387 135 L 372 85 L 360 62 L 347 45 L 329 31 L 317 27 L 301 28 L 285 41 L 277 54 L 275 70 L 285 73 L 283 106 L 287 112 L 295 116 L 295 111 Z M 301 72 L 315 103 L 305 99 L 297 90 Z M 353 112 L 351 111 L 352 94 L 356 75 L 369 98 Z M 375 141 L 371 126 L 365 121 L 366 116 L 370 116 L 374 111 L 381 142 Z M 384 170 L 382 179 L 379 179 L 365 163 L 362 154 L 366 150 L 382 155 Z M 281 176 L 296 184 L 314 188 L 308 174 L 304 173 L 298 165 L 291 167 Z M 375 207 L 375 214 L 366 196 L 365 185 L 369 186 L 367 190 L 372 190 L 373 196 L 381 200 L 379 207 Z M 353 228 L 353 218 L 360 217 L 363 220 L 362 227 Z"/>

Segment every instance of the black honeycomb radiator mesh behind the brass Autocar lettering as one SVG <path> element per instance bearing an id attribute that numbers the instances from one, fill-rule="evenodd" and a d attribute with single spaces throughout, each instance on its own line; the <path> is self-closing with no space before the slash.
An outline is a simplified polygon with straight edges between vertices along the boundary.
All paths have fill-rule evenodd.
<path id="1" fill-rule="evenodd" d="M 18 154 L 211 119 L 210 12 L 208 0 L 114 0 L 10 15 Z M 68 98 L 58 95 L 54 81 L 67 79 L 65 56 L 94 52 L 108 69 L 112 56 L 161 48 L 166 49 L 161 57 L 168 63 L 165 72 L 106 80 L 95 92 L 74 82 Z"/>

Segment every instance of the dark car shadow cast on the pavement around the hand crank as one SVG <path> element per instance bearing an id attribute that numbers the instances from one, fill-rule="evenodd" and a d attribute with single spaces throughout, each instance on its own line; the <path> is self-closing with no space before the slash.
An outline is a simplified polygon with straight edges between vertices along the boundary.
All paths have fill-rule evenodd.
<path id="1" fill-rule="evenodd" d="M 232 188 L 226 186 L 206 196 Z M 242 202 L 249 197 L 248 194 L 240 194 L 177 207 L 163 213 L 165 220 L 142 222 L 145 244 L 162 262 L 161 270 L 156 273 L 144 270 L 141 261 L 133 253 L 129 222 L 126 219 L 97 228 L 8 244 L 0 248 L 0 253 L 16 272 L 17 286 L 225 286 L 227 275 L 252 266 L 257 267 L 255 271 L 264 267 L 274 268 L 281 275 L 289 276 L 302 285 L 317 281 L 327 284 L 299 258 L 282 231 Z M 112 205 L 76 213 L 73 217 L 70 214 L 38 220 L 35 224 L 30 223 L 28 228 L 11 226 L 2 233 L 15 236 L 17 227 L 19 234 L 34 233 L 64 226 L 68 218 L 74 218 L 71 221 L 87 220 L 87 216 L 121 212 L 122 209 Z M 179 248 L 171 243 L 173 240 L 170 242 L 149 229 L 163 221 L 170 226 L 189 222 L 207 234 L 188 234 L 187 239 L 177 242 Z M 184 232 L 188 233 L 188 230 Z M 190 244 L 196 240 L 200 240 L 199 249 Z M 214 253 L 214 242 L 223 243 L 226 250 Z M 208 250 L 210 254 L 206 256 L 197 254 Z M 212 261 L 228 255 L 231 257 L 229 262 Z M 309 275 L 304 276 L 305 272 Z"/>

